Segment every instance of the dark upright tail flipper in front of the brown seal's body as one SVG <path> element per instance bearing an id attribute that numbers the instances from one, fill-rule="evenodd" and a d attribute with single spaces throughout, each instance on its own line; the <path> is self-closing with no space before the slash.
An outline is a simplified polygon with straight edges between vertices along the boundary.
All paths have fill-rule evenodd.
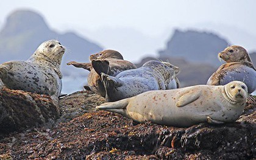
<path id="1" fill-rule="evenodd" d="M 101 73 L 112 74 L 109 62 L 107 60 L 92 60 L 91 65 L 98 75 L 101 76 Z"/>

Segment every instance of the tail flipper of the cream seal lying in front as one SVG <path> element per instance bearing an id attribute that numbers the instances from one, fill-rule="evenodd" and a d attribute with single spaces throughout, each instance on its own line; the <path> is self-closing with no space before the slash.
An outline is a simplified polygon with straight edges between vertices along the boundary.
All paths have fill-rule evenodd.
<path id="1" fill-rule="evenodd" d="M 113 113 L 118 113 L 118 114 L 125 114 L 124 110 L 126 110 L 126 106 L 129 103 L 129 99 L 123 99 L 119 100 L 117 102 L 108 102 L 108 103 L 103 103 L 100 106 L 96 106 L 96 110 L 104 110 L 104 111 L 110 111 Z"/>

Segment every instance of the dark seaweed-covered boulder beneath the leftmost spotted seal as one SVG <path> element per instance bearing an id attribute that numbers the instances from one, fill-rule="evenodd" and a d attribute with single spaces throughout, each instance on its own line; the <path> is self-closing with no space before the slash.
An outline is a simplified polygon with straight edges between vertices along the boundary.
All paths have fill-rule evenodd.
<path id="1" fill-rule="evenodd" d="M 54 122 L 59 109 L 51 97 L 0 88 L 0 134 L 23 131 Z"/>

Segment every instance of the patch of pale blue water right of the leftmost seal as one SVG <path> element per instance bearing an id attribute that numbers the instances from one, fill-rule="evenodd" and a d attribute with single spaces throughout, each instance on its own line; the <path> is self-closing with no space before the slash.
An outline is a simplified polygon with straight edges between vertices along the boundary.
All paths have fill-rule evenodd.
<path id="1" fill-rule="evenodd" d="M 71 94 L 84 89 L 87 84 L 87 77 L 63 77 L 62 94 Z"/>

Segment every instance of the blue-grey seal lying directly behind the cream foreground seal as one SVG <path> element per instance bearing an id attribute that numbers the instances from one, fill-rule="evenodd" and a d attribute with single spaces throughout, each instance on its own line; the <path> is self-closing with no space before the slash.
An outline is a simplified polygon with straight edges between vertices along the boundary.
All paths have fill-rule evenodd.
<path id="1" fill-rule="evenodd" d="M 162 61 L 148 61 L 141 68 L 120 72 L 116 77 L 102 73 L 107 102 L 136 96 L 146 91 L 177 88 L 180 69 Z M 179 86 L 179 85 L 178 85 Z"/>

